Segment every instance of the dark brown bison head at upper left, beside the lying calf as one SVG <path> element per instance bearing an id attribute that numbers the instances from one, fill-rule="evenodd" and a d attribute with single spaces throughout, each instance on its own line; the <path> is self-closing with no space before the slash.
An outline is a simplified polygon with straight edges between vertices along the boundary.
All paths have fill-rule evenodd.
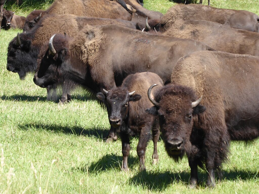
<path id="1" fill-rule="evenodd" d="M 30 31 L 34 28 L 34 26 L 38 23 L 40 18 L 46 14 L 44 10 L 34 10 L 32 11 L 25 20 L 24 26 L 23 26 L 23 32 Z"/>

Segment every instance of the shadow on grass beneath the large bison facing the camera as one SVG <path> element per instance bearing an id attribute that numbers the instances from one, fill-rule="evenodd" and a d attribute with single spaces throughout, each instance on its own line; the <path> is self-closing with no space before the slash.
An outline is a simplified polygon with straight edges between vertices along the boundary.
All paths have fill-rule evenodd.
<path id="1" fill-rule="evenodd" d="M 258 179 L 258 172 L 251 172 L 251 171 L 245 171 L 245 170 L 238 170 L 233 169 L 230 171 L 224 171 L 222 170 L 223 177 L 222 180 L 229 180 L 229 181 L 235 181 L 235 180 L 254 180 Z M 204 170 L 199 169 L 198 173 L 199 177 L 199 183 L 198 188 L 206 188 L 206 179 L 207 174 Z M 171 184 L 178 184 L 183 183 L 188 186 L 190 179 L 190 171 L 182 171 L 179 173 L 174 173 L 171 171 L 166 171 L 163 173 L 159 173 L 156 171 L 142 171 L 136 174 L 131 178 L 132 184 L 136 186 L 141 186 L 142 188 L 147 188 L 148 190 L 152 191 L 163 191 L 167 188 L 167 186 Z M 216 186 L 221 182 L 219 180 L 217 174 L 216 174 Z"/>

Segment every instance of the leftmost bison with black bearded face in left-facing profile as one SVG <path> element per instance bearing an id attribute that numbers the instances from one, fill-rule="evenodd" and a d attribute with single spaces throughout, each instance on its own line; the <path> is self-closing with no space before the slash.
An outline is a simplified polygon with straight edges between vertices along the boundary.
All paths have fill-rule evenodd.
<path id="1" fill-rule="evenodd" d="M 32 31 L 20 34 L 9 43 L 7 70 L 17 72 L 20 78 L 23 79 L 28 72 L 35 72 L 40 47 L 55 32 L 75 36 L 86 24 L 118 24 L 129 28 L 136 28 L 134 23 L 124 20 L 87 18 L 75 15 L 48 15 L 43 17 Z M 72 86 L 71 84 L 69 85 Z M 66 91 L 67 87 L 64 87 L 60 103 L 68 100 L 70 92 L 67 91 L 67 95 Z M 50 97 L 50 94 L 48 94 L 48 97 Z"/>

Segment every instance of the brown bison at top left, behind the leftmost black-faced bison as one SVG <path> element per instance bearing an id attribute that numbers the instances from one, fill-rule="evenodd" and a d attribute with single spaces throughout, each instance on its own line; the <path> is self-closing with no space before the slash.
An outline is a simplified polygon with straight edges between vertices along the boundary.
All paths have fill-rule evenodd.
<path id="1" fill-rule="evenodd" d="M 127 21 L 132 19 L 132 12 L 122 0 L 56 0 L 47 10 L 32 11 L 26 18 L 24 31 L 31 30 L 39 19 L 46 14 L 74 14 Z"/>

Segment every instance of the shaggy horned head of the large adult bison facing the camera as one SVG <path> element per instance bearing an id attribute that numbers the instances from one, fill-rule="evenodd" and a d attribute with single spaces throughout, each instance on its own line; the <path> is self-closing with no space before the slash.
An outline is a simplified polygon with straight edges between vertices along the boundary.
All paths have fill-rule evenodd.
<path id="1" fill-rule="evenodd" d="M 159 116 L 166 151 L 178 161 L 185 152 L 191 153 L 193 117 L 205 111 L 205 107 L 200 105 L 202 97 L 197 100 L 191 88 L 166 85 L 154 98 L 151 90 L 155 85 L 150 86 L 148 90 L 148 97 L 155 106 L 146 111 Z"/>

